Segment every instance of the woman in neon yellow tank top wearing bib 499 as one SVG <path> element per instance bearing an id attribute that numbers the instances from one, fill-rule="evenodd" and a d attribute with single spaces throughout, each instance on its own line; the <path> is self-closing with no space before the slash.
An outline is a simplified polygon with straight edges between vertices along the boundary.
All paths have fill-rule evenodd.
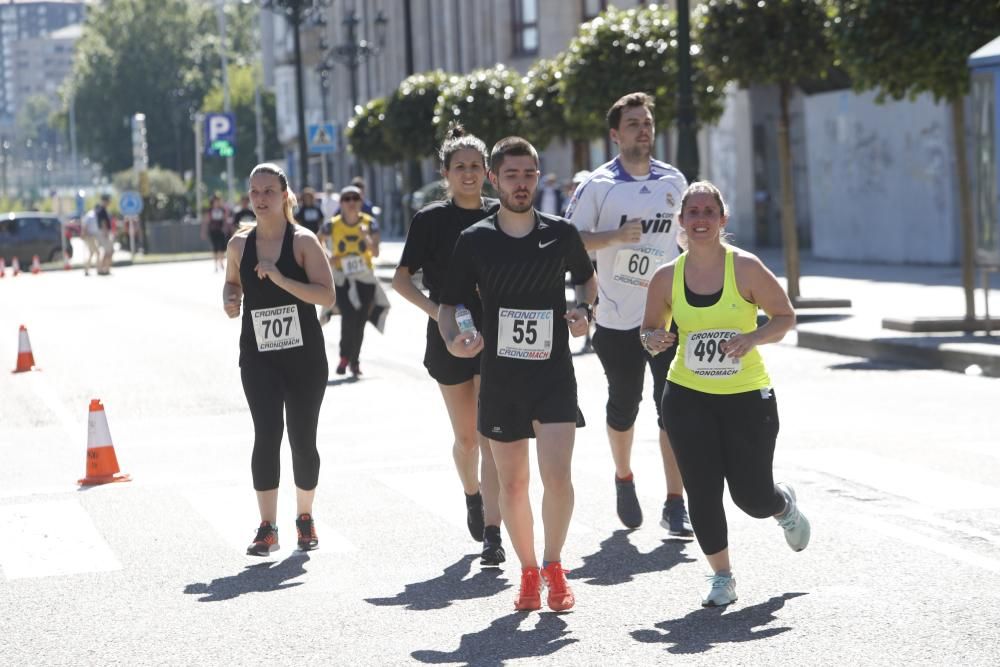
<path id="1" fill-rule="evenodd" d="M 750 516 L 773 516 L 794 551 L 809 543 L 795 492 L 772 475 L 778 411 L 757 351 L 781 340 L 795 311 L 774 274 L 754 255 L 725 243 L 722 194 L 692 183 L 678 216 L 687 251 L 654 274 L 640 337 L 650 354 L 676 344 L 663 392 L 663 423 L 688 490 L 691 524 L 712 568 L 702 605 L 736 601 L 729 564 L 723 482 Z M 757 309 L 768 322 L 757 326 Z M 668 331 L 671 318 L 677 334 Z"/>

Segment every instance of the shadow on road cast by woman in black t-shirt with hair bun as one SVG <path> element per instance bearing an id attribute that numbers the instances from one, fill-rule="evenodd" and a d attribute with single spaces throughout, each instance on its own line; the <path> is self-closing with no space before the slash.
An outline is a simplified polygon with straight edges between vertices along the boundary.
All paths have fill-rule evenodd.
<path id="1" fill-rule="evenodd" d="M 466 579 L 472 562 L 478 558 L 478 555 L 463 556 L 454 565 L 446 567 L 440 577 L 406 584 L 403 592 L 395 597 L 366 598 L 365 602 L 379 607 L 399 605 L 413 611 L 428 611 L 444 609 L 457 600 L 487 598 L 510 588 L 507 580 L 500 578 L 501 572 L 497 568 L 484 568 Z"/>

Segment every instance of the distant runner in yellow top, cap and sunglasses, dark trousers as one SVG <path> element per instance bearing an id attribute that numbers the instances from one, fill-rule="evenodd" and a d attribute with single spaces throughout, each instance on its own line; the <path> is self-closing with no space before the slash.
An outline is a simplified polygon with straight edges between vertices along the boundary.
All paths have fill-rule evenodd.
<path id="1" fill-rule="evenodd" d="M 329 247 L 330 264 L 340 309 L 340 363 L 337 375 L 348 366 L 351 375 L 361 375 L 361 345 L 365 323 L 372 316 L 378 291 L 373 259 L 379 252 L 379 226 L 361 211 L 361 190 L 348 185 L 340 191 L 340 213 L 320 230 L 320 242 Z M 324 311 L 323 323 L 331 312 Z"/>

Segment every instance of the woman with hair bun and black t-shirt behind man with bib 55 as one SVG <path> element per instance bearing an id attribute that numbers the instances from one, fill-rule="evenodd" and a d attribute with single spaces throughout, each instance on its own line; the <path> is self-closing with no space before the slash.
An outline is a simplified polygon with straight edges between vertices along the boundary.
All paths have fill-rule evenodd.
<path id="1" fill-rule="evenodd" d="M 466 524 L 473 539 L 483 543 L 482 564 L 499 565 L 506 560 L 506 553 L 500 539 L 496 464 L 489 441 L 476 431 L 480 359 L 479 355 L 460 358 L 448 352 L 438 332 L 437 317 L 458 235 L 495 213 L 500 202 L 482 196 L 486 145 L 466 134 L 461 125 L 448 128 L 438 157 L 450 198 L 429 204 L 413 216 L 392 286 L 400 296 L 427 313 L 424 367 L 437 381 L 451 420 L 455 436 L 452 458 L 465 491 Z M 422 272 L 426 295 L 413 284 L 418 271 Z M 474 324 L 481 327 L 483 306 L 478 294 L 471 295 L 464 305 Z"/>

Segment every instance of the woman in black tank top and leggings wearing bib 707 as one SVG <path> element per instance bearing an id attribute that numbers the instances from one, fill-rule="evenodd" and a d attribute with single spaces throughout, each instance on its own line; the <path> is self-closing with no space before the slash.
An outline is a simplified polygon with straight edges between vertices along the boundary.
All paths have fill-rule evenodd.
<path id="1" fill-rule="evenodd" d="M 323 332 L 314 306 L 336 300 L 333 275 L 316 236 L 296 225 L 295 195 L 284 172 L 271 164 L 250 174 L 250 200 L 257 226 L 237 233 L 227 248 L 223 307 L 240 316 L 240 376 L 254 423 L 251 458 L 260 527 L 247 554 L 278 549 L 279 449 L 288 425 L 295 477 L 295 521 L 301 549 L 318 546 L 312 503 L 319 478 L 316 428 L 326 391 Z"/>

